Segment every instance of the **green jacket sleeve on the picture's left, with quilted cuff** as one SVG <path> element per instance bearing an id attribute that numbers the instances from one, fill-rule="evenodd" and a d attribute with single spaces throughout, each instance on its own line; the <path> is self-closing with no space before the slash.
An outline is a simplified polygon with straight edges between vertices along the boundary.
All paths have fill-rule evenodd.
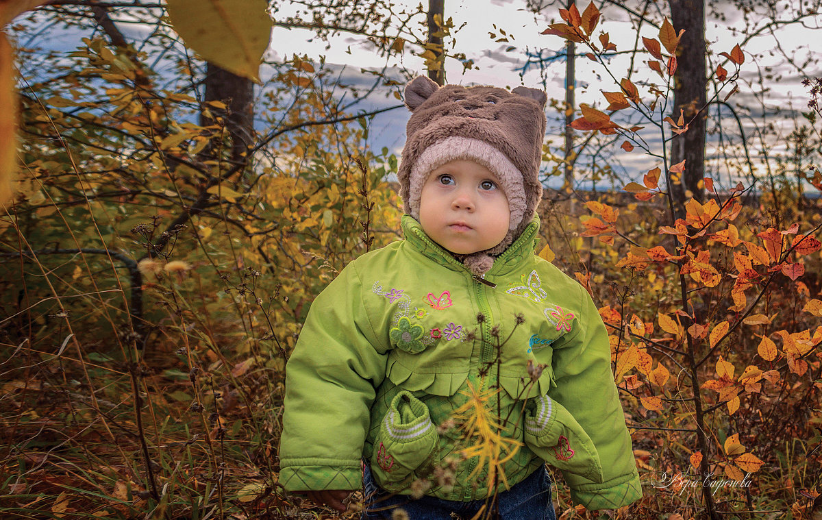
<path id="1" fill-rule="evenodd" d="M 314 300 L 285 368 L 279 483 L 288 491 L 357 490 L 386 351 L 363 309 L 354 262 Z"/>

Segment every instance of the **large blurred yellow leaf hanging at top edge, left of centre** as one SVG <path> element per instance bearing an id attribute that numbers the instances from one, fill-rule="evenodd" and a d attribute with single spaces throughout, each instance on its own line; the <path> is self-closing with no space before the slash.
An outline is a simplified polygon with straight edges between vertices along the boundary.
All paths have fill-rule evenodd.
<path id="1" fill-rule="evenodd" d="M 271 18 L 266 0 L 167 0 L 173 29 L 206 61 L 259 81 Z M 218 37 L 219 35 L 219 37 Z"/>

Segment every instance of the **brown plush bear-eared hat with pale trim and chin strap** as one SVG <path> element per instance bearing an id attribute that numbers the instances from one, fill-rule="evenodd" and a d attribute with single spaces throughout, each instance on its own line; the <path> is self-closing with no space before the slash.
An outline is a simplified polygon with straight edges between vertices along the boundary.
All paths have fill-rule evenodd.
<path id="1" fill-rule="evenodd" d="M 491 268 L 529 225 L 543 197 L 539 164 L 545 134 L 545 92 L 518 86 L 438 86 L 415 77 L 405 86 L 411 110 L 399 165 L 403 210 L 419 220 L 428 175 L 452 160 L 473 160 L 499 179 L 510 207 L 510 227 L 500 244 L 460 258 L 476 274 Z"/>

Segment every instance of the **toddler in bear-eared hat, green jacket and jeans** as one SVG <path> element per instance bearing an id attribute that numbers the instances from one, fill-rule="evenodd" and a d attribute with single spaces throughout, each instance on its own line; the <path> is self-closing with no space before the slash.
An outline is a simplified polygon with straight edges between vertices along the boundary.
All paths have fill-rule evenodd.
<path id="1" fill-rule="evenodd" d="M 597 308 L 533 253 L 545 102 L 521 86 L 406 86 L 405 238 L 312 304 L 286 369 L 286 490 L 344 511 L 364 459 L 363 518 L 471 518 L 496 494 L 501 518 L 553 519 L 547 462 L 586 508 L 641 497 Z M 461 456 L 477 440 L 454 412 L 472 390 L 505 423 L 496 476 Z"/>

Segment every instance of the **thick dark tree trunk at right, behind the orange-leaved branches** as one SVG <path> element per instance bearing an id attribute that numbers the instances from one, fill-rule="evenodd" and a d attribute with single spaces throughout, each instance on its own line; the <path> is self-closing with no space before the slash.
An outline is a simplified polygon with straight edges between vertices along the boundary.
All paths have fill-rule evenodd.
<path id="1" fill-rule="evenodd" d="M 708 108 L 705 106 L 705 15 L 704 0 L 670 0 L 671 17 L 677 32 L 685 30 L 677 48 L 677 73 L 674 77 L 674 114 L 679 118 L 684 111 L 688 131 L 674 137 L 671 146 L 671 164 L 686 160 L 681 183 L 670 187 L 676 202 L 676 215 L 685 215 L 685 202 L 690 197 L 703 200 L 700 181 L 704 177 L 705 126 Z M 688 193 L 690 192 L 690 193 Z"/>

